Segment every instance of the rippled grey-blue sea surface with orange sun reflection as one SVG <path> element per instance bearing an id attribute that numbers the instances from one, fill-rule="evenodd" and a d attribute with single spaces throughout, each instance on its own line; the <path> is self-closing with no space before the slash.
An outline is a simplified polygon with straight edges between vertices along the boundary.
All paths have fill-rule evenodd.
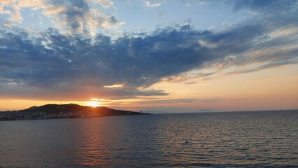
<path id="1" fill-rule="evenodd" d="M 1 121 L 0 167 L 298 167 L 298 111 Z"/>

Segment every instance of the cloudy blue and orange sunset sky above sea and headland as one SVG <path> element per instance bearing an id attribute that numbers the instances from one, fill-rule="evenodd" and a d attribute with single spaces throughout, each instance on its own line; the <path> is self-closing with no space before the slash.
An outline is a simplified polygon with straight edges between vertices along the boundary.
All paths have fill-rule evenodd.
<path id="1" fill-rule="evenodd" d="M 298 1 L 1 0 L 0 111 L 298 109 Z"/>

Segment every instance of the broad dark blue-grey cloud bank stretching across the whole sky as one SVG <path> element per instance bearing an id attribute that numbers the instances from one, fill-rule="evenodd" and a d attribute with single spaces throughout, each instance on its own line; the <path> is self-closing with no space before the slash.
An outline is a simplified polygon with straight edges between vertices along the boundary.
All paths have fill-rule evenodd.
<path id="1" fill-rule="evenodd" d="M 60 1 L 52 3 L 61 5 Z M 72 22 L 80 22 L 88 6 L 85 1 L 69 3 L 81 9 L 64 11 L 69 15 L 69 21 L 66 21 L 76 29 Z M 296 15 L 297 10 L 290 13 Z M 297 27 L 297 18 L 292 15 L 288 18 L 282 14 L 265 15 L 266 20 L 245 22 L 219 32 L 197 31 L 184 25 L 115 40 L 104 34 L 94 38 L 83 34 L 66 36 L 57 29 L 47 29 L 35 36 L 16 27 L 14 31 L 3 29 L 0 31 L 0 95 L 43 99 L 158 96 L 167 93 L 142 90 L 141 87 L 192 69 L 264 63 L 253 69 L 234 71 L 248 73 L 294 64 L 297 63 L 297 31 L 278 38 L 269 35 L 272 31 Z M 281 18 L 285 20 L 276 21 Z M 115 18 L 109 20 L 115 22 Z M 286 48 L 288 45 L 292 47 Z M 271 50 L 275 46 L 285 49 Z M 248 57 L 254 50 L 265 51 L 256 57 Z M 213 72 L 197 75 L 204 74 L 208 76 Z M 105 87 L 115 84 L 123 87 Z"/>

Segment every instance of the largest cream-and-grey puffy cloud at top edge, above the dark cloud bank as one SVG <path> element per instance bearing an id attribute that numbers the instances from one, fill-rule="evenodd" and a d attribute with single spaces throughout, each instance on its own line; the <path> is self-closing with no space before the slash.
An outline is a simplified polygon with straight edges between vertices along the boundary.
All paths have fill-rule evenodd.
<path id="1" fill-rule="evenodd" d="M 111 1 L 95 1 L 103 8 L 113 5 Z M 48 15 L 52 22 L 57 23 L 64 29 L 71 28 L 75 33 L 95 34 L 99 28 L 113 29 L 123 24 L 118 22 L 113 15 L 102 13 L 95 8 L 90 8 L 88 1 L 49 1 L 49 8 L 45 8 L 43 13 Z"/>

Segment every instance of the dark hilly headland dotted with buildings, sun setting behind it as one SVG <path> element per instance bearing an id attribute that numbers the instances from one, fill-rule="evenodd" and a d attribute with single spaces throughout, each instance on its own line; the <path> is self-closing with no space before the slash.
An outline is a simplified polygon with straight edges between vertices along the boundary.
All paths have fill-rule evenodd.
<path id="1" fill-rule="evenodd" d="M 37 120 L 53 118 L 95 118 L 104 116 L 144 115 L 134 111 L 109 109 L 104 106 L 91 107 L 78 104 L 45 104 L 31 106 L 20 111 L 1 111 L 0 120 Z"/>

